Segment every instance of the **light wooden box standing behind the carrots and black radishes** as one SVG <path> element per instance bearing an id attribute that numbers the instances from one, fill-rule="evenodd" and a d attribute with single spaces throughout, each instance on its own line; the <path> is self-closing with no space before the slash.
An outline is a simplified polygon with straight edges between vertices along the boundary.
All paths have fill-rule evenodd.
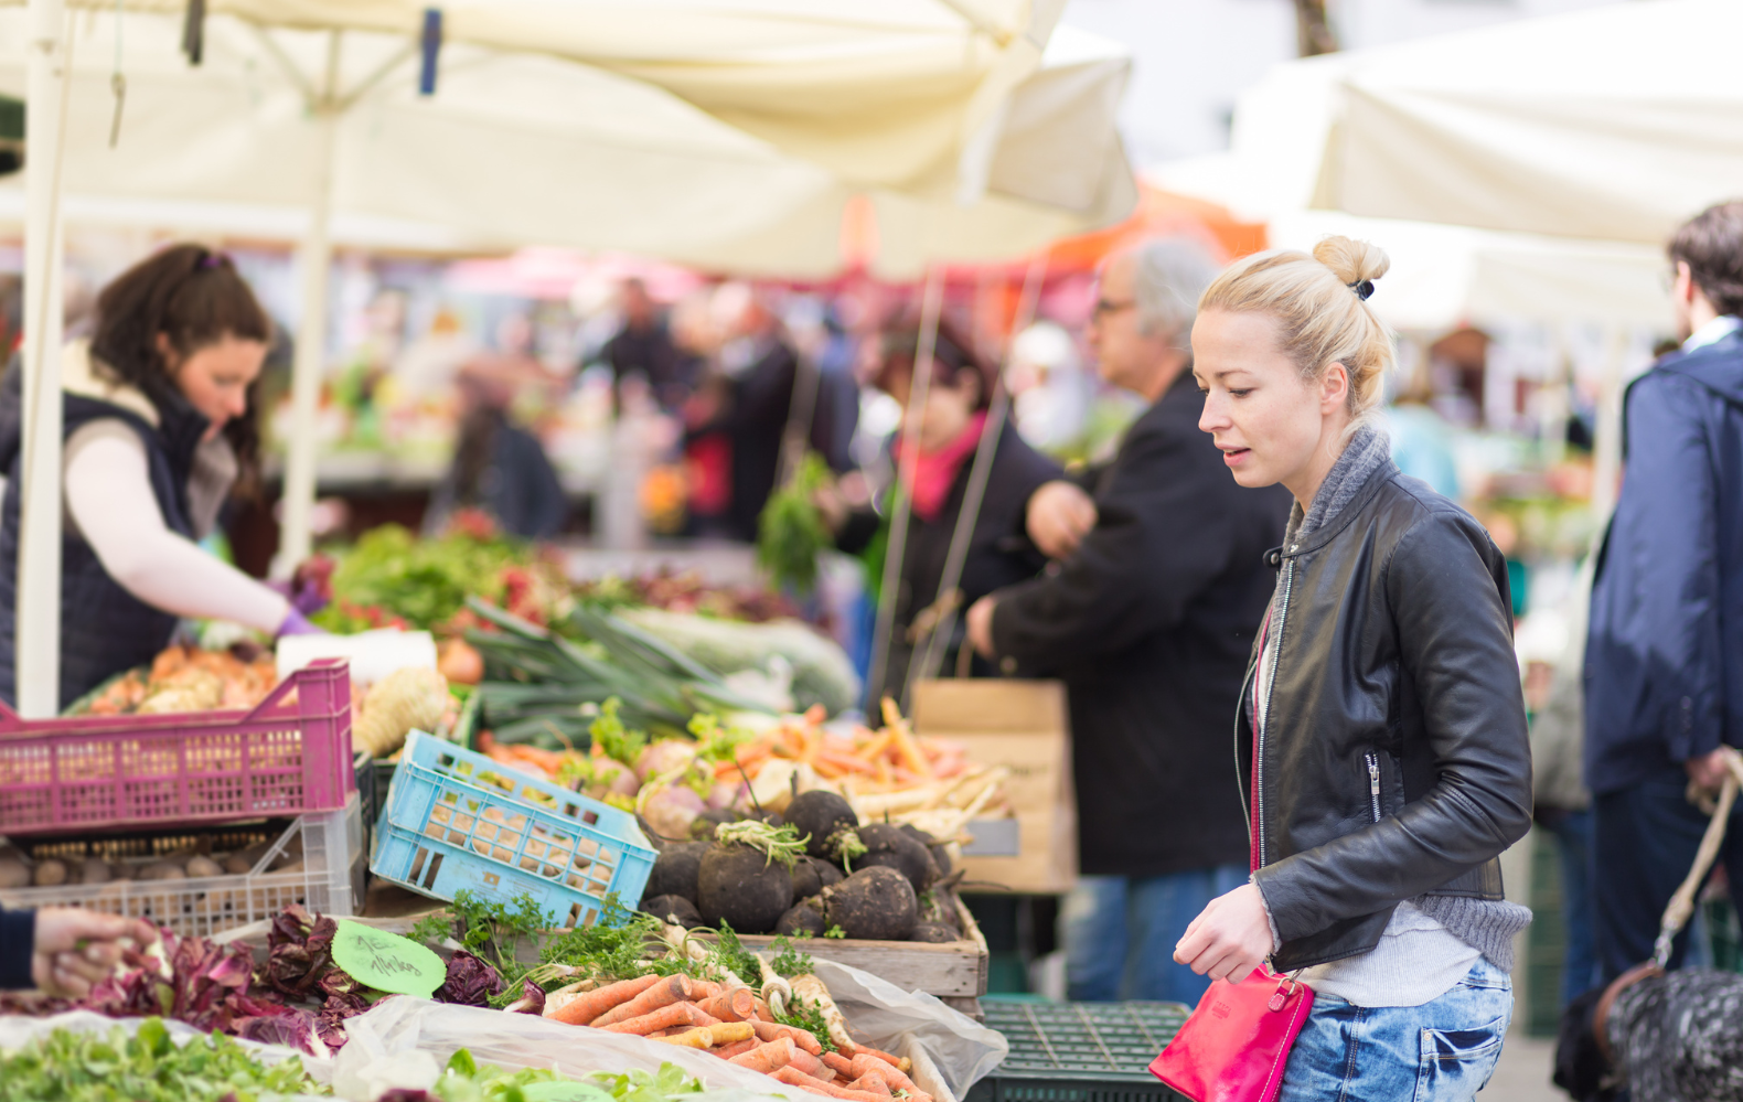
<path id="1" fill-rule="evenodd" d="M 1070 891 L 1077 879 L 1077 800 L 1065 685 L 1002 678 L 920 682 L 913 689 L 913 729 L 962 743 L 974 762 L 1009 771 L 1004 785 L 1018 820 L 1018 853 L 964 856 L 974 889 Z"/>

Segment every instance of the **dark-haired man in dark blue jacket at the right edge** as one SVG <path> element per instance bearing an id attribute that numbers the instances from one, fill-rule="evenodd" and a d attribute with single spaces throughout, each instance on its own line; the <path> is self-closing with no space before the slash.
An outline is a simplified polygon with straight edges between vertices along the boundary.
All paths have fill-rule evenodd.
<path id="1" fill-rule="evenodd" d="M 1684 345 L 1623 405 L 1623 490 L 1586 638 L 1586 783 L 1597 811 L 1597 949 L 1607 978 L 1652 956 L 1717 790 L 1743 746 L 1743 202 L 1670 242 Z M 1743 896 L 1743 809 L 1726 847 Z M 1679 938 L 1672 966 L 1687 938 Z"/>

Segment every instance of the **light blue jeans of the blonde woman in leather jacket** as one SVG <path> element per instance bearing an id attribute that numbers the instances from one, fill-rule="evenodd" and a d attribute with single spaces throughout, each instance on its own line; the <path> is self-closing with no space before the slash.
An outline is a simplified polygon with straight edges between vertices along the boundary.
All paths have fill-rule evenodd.
<path id="1" fill-rule="evenodd" d="M 1422 1006 L 1314 996 L 1278 1102 L 1466 1102 L 1483 1090 L 1513 1020 L 1513 980 L 1476 961 Z"/>

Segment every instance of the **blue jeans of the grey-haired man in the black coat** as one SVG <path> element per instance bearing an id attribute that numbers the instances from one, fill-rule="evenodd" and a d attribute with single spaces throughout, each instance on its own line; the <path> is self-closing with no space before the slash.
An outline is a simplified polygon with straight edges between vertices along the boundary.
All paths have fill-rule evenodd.
<path id="1" fill-rule="evenodd" d="M 1206 903 L 1245 882 L 1245 865 L 1161 877 L 1077 877 L 1061 917 L 1070 999 L 1197 1006 L 1210 980 L 1175 964 L 1175 942 Z"/>

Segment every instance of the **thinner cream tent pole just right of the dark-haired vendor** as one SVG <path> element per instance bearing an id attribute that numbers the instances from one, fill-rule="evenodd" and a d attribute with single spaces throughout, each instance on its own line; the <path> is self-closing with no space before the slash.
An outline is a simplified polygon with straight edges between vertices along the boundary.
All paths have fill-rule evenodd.
<path id="1" fill-rule="evenodd" d="M 315 412 L 321 377 L 326 373 L 328 277 L 333 270 L 333 146 L 338 141 L 338 45 L 340 31 L 328 31 L 326 82 L 321 98 L 309 105 L 315 127 L 315 194 L 309 235 L 303 239 L 303 314 L 296 324 L 296 363 L 291 370 L 291 439 L 284 462 L 284 516 L 279 554 L 272 575 L 289 577 L 312 549 L 310 513 L 315 504 Z"/>

